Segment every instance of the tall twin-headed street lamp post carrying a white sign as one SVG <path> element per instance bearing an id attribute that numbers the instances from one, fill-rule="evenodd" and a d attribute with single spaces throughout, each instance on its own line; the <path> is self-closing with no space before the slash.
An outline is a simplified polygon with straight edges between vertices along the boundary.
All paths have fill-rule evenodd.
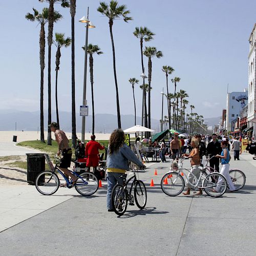
<path id="1" fill-rule="evenodd" d="M 95 28 L 95 26 L 89 20 L 89 7 L 87 8 L 87 17 L 83 16 L 79 19 L 79 22 L 86 23 L 86 44 L 84 46 L 84 70 L 83 70 L 83 94 L 82 94 L 82 105 L 87 105 L 86 100 L 86 81 L 87 81 L 87 50 L 88 50 L 88 29 Z M 84 136 L 86 133 L 86 116 L 82 116 L 82 131 L 81 141 L 84 142 Z"/>

